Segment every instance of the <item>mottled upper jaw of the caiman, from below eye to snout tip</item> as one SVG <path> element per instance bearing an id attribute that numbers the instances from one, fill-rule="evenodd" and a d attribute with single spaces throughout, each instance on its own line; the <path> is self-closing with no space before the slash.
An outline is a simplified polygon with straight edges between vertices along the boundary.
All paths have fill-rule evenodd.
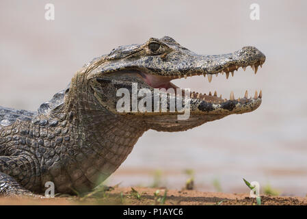
<path id="1" fill-rule="evenodd" d="M 171 79 L 181 77 L 191 77 L 194 75 L 204 75 L 209 77 L 218 73 L 226 73 L 229 75 L 240 67 L 245 70 L 246 67 L 251 66 L 255 73 L 258 66 L 262 66 L 265 62 L 265 55 L 256 49 L 256 47 L 243 47 L 234 53 L 227 53 L 222 55 L 197 55 L 196 53 L 171 53 L 169 60 L 162 62 L 162 67 L 158 64 L 150 66 L 150 72 L 154 75 L 167 76 Z"/>

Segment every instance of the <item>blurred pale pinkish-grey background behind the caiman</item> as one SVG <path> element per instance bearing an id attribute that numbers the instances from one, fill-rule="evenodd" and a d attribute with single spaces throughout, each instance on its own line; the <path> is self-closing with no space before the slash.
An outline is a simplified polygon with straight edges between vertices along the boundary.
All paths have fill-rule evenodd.
<path id="1" fill-rule="evenodd" d="M 46 3 L 55 20 L 46 21 Z M 250 19 L 250 5 L 260 20 Z M 263 90 L 258 110 L 182 133 L 147 131 L 107 184 L 247 192 L 242 178 L 282 195 L 307 193 L 307 1 L 0 1 L 0 105 L 36 110 L 92 58 L 171 36 L 201 54 L 245 45 L 267 56 L 257 75 L 175 80 L 229 98 Z"/>

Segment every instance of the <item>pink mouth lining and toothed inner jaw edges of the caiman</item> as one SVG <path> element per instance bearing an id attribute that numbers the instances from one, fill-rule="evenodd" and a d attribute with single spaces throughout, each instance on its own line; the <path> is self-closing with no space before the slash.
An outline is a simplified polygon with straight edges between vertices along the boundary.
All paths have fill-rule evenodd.
<path id="1" fill-rule="evenodd" d="M 228 66 L 222 66 L 222 68 L 220 68 L 219 70 L 215 70 L 215 72 L 213 73 L 189 73 L 189 75 L 178 75 L 178 76 L 161 76 L 161 75 L 154 75 L 151 73 L 139 73 L 142 76 L 142 79 L 145 83 L 147 83 L 149 86 L 151 86 L 152 88 L 164 88 L 165 90 L 168 90 L 170 88 L 173 88 L 174 91 L 176 92 L 176 88 L 178 88 L 176 85 L 174 85 L 174 83 L 172 83 L 171 81 L 173 79 L 181 79 L 181 78 L 185 78 L 187 79 L 187 77 L 193 77 L 196 75 L 204 75 L 204 77 L 208 78 L 209 83 L 212 81 L 212 77 L 213 75 L 215 75 L 216 77 L 218 75 L 225 75 L 226 79 L 228 79 L 228 77 L 230 76 L 230 74 L 232 75 L 232 77 L 235 75 L 235 71 L 239 70 L 239 68 L 243 68 L 243 70 L 245 71 L 247 67 L 252 68 L 252 70 L 254 71 L 255 75 L 258 71 L 258 67 L 262 67 L 263 63 L 265 61 L 261 61 L 258 60 L 256 61 L 254 64 L 250 64 L 250 65 L 239 65 L 239 64 L 230 64 Z M 181 88 L 184 90 L 184 88 Z M 184 95 L 184 93 L 183 93 Z M 198 93 L 198 92 L 193 92 L 191 91 L 190 94 L 190 98 L 191 99 L 198 99 L 200 101 L 206 101 L 207 103 L 225 103 L 226 101 L 238 101 L 239 103 L 248 103 L 249 101 L 252 101 L 253 99 L 261 99 L 262 98 L 262 91 L 260 90 L 259 92 L 256 91 L 254 93 L 254 96 L 250 96 L 248 97 L 248 91 L 245 91 L 244 96 L 239 97 L 238 99 L 235 99 L 235 95 L 233 92 L 230 92 L 230 97 L 229 99 L 223 99 L 222 95 L 217 95 L 217 92 L 215 91 L 213 94 L 211 92 L 209 92 L 209 94 L 202 94 L 202 93 Z"/>

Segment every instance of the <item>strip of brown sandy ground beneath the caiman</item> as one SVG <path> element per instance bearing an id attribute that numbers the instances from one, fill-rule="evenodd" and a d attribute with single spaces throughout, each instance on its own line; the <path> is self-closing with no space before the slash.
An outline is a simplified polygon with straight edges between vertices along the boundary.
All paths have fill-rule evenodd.
<path id="1" fill-rule="evenodd" d="M 114 188 L 82 198 L 61 196 L 55 198 L 0 198 L 0 205 L 161 205 L 165 188 Z M 159 194 L 155 192 L 159 190 Z M 139 196 L 137 196 L 139 194 Z M 306 197 L 261 196 L 262 205 L 307 205 Z M 167 190 L 164 205 L 256 205 L 248 194 L 198 192 L 195 190 Z"/>

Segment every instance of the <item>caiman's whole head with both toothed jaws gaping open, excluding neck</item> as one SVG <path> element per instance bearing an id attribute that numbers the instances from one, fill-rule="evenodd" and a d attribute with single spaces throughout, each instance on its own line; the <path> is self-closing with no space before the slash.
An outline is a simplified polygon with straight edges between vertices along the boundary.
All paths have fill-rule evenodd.
<path id="1" fill-rule="evenodd" d="M 245 92 L 243 97 L 235 99 L 231 92 L 230 99 L 222 99 L 222 96 L 217 96 L 217 92 L 201 94 L 191 91 L 187 99 L 182 101 L 183 107 L 189 105 L 189 117 L 178 119 L 178 114 L 183 114 L 183 111 L 170 110 L 170 100 L 173 98 L 178 101 L 179 94 L 176 91 L 178 87 L 171 82 L 173 79 L 204 75 L 211 82 L 213 75 L 226 75 L 228 78 L 230 73 L 233 75 L 240 67 L 245 70 L 251 66 L 256 73 L 258 66 L 262 66 L 264 62 L 265 55 L 255 47 L 243 47 L 222 55 L 198 55 L 165 36 L 161 39 L 150 38 L 144 44 L 113 49 L 109 55 L 103 55 L 85 64 L 77 76 L 82 76 L 88 95 L 94 96 L 96 104 L 109 110 L 114 116 L 138 116 L 148 129 L 157 131 L 184 131 L 230 114 L 252 112 L 261 105 L 262 93 L 256 92 L 249 98 L 248 92 Z M 146 103 L 146 106 L 152 103 L 151 111 L 133 109 L 133 83 L 137 84 L 138 90 L 146 88 L 150 91 L 145 93 L 146 97 L 152 98 L 152 101 Z M 129 90 L 131 94 L 129 110 L 124 112 L 119 112 L 117 108 L 118 101 L 122 99 L 122 96 L 117 94 L 120 88 Z M 161 108 L 154 109 L 157 88 L 175 90 L 165 101 L 167 112 Z M 159 95 L 165 95 L 165 90 L 161 90 Z M 137 97 L 137 104 L 142 97 Z"/>

